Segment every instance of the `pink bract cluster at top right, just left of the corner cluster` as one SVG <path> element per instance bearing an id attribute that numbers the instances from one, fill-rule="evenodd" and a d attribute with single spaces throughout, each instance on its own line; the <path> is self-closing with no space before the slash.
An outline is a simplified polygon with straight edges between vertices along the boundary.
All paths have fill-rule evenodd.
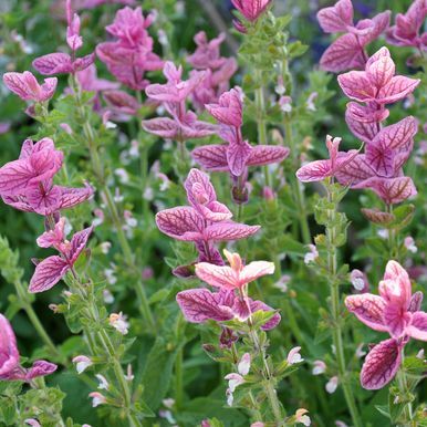
<path id="1" fill-rule="evenodd" d="M 376 40 L 388 27 L 390 12 L 378 13 L 373 19 L 353 23 L 351 0 L 340 0 L 334 7 L 319 11 L 317 20 L 323 31 L 345 34 L 339 37 L 323 53 L 321 67 L 325 71 L 341 72 L 362 69 L 366 62 L 365 46 Z"/>

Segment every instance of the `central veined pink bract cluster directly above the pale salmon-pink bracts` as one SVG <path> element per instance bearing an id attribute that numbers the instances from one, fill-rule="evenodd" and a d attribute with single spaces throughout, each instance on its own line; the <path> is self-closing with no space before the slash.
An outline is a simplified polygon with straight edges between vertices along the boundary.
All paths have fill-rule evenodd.
<path id="1" fill-rule="evenodd" d="M 215 242 L 244 239 L 259 230 L 259 226 L 230 220 L 231 212 L 217 201 L 208 176 L 200 170 L 190 170 L 185 187 L 191 206 L 162 210 L 156 215 L 156 223 L 162 232 L 174 239 L 195 242 L 199 261 L 221 264 Z"/>

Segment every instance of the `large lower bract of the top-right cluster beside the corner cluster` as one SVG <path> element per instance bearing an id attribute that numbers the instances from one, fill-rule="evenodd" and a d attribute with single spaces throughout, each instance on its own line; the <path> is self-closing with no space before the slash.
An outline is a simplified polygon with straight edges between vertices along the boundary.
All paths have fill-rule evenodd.
<path id="1" fill-rule="evenodd" d="M 361 69 L 365 64 L 363 50 L 355 34 L 344 34 L 336 39 L 323 53 L 321 69 L 339 73 L 350 69 Z"/>

